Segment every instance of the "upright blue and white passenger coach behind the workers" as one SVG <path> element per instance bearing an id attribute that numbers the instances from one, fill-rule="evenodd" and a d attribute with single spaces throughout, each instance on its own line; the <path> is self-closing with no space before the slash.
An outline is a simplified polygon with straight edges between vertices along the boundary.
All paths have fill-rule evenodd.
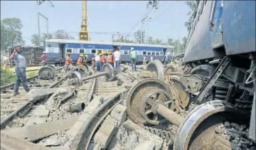
<path id="1" fill-rule="evenodd" d="M 129 62 L 129 50 L 134 47 L 138 53 L 138 62 L 143 61 L 143 55 L 147 56 L 147 61 L 153 55 L 154 59 L 162 60 L 165 53 L 170 51 L 173 53 L 173 46 L 157 45 L 157 44 L 134 44 L 134 43 L 120 43 L 120 42 L 93 42 L 80 40 L 62 40 L 49 39 L 45 41 L 45 51 L 48 56 L 49 63 L 64 63 L 67 52 L 71 53 L 73 61 L 77 61 L 79 54 L 87 54 L 90 62 L 94 57 L 96 51 L 102 52 L 113 51 L 119 47 L 122 62 Z"/>

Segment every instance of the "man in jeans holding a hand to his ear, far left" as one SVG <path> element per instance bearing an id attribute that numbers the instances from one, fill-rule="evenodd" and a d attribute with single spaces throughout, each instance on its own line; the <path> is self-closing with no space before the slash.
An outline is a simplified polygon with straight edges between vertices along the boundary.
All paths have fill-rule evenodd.
<path id="1" fill-rule="evenodd" d="M 22 83 L 22 86 L 26 92 L 29 92 L 29 86 L 26 84 L 26 58 L 22 55 L 22 47 L 16 46 L 13 53 L 10 55 L 9 60 L 15 60 L 15 72 L 17 79 L 14 85 L 13 96 L 19 94 L 19 84 Z"/>

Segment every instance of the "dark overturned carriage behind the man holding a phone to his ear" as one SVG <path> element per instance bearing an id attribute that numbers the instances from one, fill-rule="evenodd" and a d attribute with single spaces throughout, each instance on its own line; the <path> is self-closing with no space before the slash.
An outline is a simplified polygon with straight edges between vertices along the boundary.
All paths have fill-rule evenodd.
<path id="1" fill-rule="evenodd" d="M 22 47 L 22 53 L 26 58 L 26 63 L 28 66 L 38 66 L 41 62 L 41 56 L 44 49 L 42 47 Z M 13 53 L 13 48 L 6 50 L 7 56 Z M 10 66 L 15 66 L 15 61 L 10 60 L 8 62 Z"/>

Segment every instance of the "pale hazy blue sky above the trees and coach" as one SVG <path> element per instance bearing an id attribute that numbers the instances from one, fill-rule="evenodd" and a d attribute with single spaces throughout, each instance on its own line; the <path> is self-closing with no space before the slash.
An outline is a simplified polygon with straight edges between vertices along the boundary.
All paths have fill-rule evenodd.
<path id="1" fill-rule="evenodd" d="M 133 33 L 143 17 L 151 10 L 148 1 L 87 1 L 88 31 L 91 40 L 111 42 L 116 33 Z M 51 3 L 54 7 L 51 7 Z M 38 12 L 48 18 L 49 33 L 58 29 L 67 31 L 79 39 L 82 17 L 82 1 L 45 1 L 40 6 L 36 1 L 1 1 L 1 19 L 17 17 L 22 20 L 22 35 L 26 45 L 31 45 L 31 35 L 38 33 Z M 150 14 L 150 21 L 138 29 L 148 37 L 180 39 L 188 32 L 184 26 L 189 17 L 185 1 L 161 1 L 159 8 Z M 40 32 L 47 33 L 46 19 L 40 17 Z M 118 38 L 117 35 L 114 38 Z M 133 36 L 129 37 L 131 40 Z"/>

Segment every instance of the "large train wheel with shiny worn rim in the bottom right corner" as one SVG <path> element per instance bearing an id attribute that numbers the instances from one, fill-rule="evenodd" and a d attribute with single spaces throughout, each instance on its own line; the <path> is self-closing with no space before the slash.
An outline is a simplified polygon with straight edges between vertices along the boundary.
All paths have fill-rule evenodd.
<path id="1" fill-rule="evenodd" d="M 216 128 L 227 120 L 240 124 L 243 122 L 243 116 L 226 101 L 203 103 L 186 117 L 182 126 L 179 126 L 174 149 L 232 149 L 230 141 L 216 132 Z"/>

